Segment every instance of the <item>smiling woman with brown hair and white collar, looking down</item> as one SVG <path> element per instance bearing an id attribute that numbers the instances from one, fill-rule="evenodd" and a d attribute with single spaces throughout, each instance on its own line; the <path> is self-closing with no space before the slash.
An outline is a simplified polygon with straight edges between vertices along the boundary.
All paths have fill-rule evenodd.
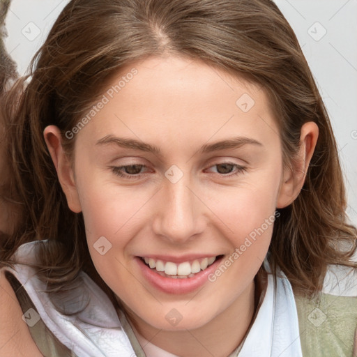
<path id="1" fill-rule="evenodd" d="M 352 354 L 356 228 L 272 1 L 71 1 L 13 96 L 29 215 L 1 257 L 3 343 L 20 330 L 33 356 Z"/>

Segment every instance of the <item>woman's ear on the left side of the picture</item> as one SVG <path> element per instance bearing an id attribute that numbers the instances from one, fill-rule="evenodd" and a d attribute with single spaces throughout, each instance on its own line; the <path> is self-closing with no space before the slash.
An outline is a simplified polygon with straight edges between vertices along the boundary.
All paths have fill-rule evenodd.
<path id="1" fill-rule="evenodd" d="M 43 136 L 45 137 L 48 151 L 50 151 L 54 167 L 56 167 L 59 183 L 66 195 L 68 207 L 71 211 L 79 213 L 82 211 L 82 207 L 75 186 L 75 175 L 68 155 L 64 153 L 62 148 L 61 131 L 56 126 L 47 126 L 43 131 Z"/>

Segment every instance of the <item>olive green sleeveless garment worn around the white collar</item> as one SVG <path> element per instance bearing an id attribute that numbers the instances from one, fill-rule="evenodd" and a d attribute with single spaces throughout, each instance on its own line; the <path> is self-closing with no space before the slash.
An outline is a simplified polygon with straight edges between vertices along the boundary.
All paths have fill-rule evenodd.
<path id="1" fill-rule="evenodd" d="M 12 274 L 7 274 L 19 299 L 22 311 L 36 310 L 24 287 Z M 20 294 L 22 292 L 22 294 Z M 319 295 L 309 300 L 295 296 L 303 357 L 354 357 L 354 333 L 357 326 L 357 297 Z M 128 320 L 119 310 L 119 318 L 137 357 L 146 357 Z M 77 357 L 61 344 L 42 320 L 29 328 L 34 342 L 45 357 Z M 238 357 L 239 346 L 229 357 Z"/>

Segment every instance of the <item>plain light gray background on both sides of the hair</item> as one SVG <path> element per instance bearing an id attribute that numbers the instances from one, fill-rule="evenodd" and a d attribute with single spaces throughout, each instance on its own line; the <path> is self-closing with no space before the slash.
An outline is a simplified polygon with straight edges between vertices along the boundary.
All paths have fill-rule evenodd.
<path id="1" fill-rule="evenodd" d="M 357 225 L 357 0 L 275 0 L 294 29 L 330 114 Z M 13 0 L 6 47 L 24 74 L 68 0 Z"/>

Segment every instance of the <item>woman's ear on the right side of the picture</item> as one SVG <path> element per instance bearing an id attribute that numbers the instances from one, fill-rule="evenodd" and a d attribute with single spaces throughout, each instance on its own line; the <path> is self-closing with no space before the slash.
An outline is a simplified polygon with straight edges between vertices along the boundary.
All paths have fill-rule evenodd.
<path id="1" fill-rule="evenodd" d="M 277 208 L 289 206 L 301 192 L 318 137 L 319 127 L 316 123 L 309 121 L 301 127 L 301 147 L 297 157 L 291 162 L 292 170 L 284 169 L 276 204 Z"/>

